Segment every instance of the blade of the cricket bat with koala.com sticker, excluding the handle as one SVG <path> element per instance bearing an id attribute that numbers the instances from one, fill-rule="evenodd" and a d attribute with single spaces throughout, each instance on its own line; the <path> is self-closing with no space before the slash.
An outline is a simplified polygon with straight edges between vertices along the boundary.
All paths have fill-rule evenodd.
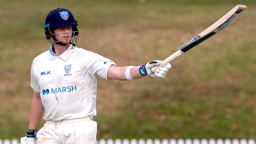
<path id="1" fill-rule="evenodd" d="M 187 52 L 197 44 L 205 41 L 206 39 L 210 38 L 211 36 L 219 33 L 221 30 L 226 28 L 228 24 L 233 22 L 247 7 L 245 5 L 237 5 L 233 9 L 231 9 L 226 15 L 220 18 L 217 22 L 212 24 L 209 28 L 204 30 L 202 33 L 197 35 L 195 38 L 191 39 L 189 42 L 184 44 L 180 47 L 182 52 Z"/>

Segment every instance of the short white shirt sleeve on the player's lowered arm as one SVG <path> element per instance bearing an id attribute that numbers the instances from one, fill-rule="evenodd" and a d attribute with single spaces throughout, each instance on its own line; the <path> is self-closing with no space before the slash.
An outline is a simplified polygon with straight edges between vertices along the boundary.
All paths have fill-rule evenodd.
<path id="1" fill-rule="evenodd" d="M 40 87 L 39 87 L 39 83 L 38 83 L 38 78 L 35 75 L 35 70 L 36 70 L 36 65 L 35 65 L 35 61 L 33 61 L 32 66 L 31 66 L 30 86 L 32 87 L 34 92 L 39 93 Z"/>

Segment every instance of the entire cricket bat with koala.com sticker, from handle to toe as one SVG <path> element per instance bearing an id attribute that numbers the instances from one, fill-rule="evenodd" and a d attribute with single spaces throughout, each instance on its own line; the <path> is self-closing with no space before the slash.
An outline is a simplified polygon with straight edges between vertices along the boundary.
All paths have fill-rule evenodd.
<path id="1" fill-rule="evenodd" d="M 247 6 L 238 4 L 233 9 L 231 9 L 226 15 L 224 15 L 222 18 L 217 20 L 214 24 L 209 26 L 206 30 L 202 31 L 199 35 L 188 41 L 186 44 L 181 46 L 178 51 L 167 57 L 165 60 L 161 62 L 159 66 L 154 66 L 151 68 L 152 72 L 155 72 L 156 69 L 159 67 L 162 67 L 166 65 L 167 63 L 170 63 L 180 55 L 184 54 L 194 46 L 197 46 L 197 44 L 200 44 L 201 42 L 205 41 L 206 39 L 212 37 L 213 35 L 216 35 L 220 31 L 222 31 L 228 24 L 232 23 L 245 9 Z"/>

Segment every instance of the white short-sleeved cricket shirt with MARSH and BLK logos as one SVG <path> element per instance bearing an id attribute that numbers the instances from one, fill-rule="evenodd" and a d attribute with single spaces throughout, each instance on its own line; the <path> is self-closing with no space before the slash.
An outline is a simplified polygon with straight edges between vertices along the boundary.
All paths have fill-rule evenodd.
<path id="1" fill-rule="evenodd" d="M 71 48 L 71 44 L 70 47 Z M 75 47 L 61 55 L 49 50 L 35 57 L 31 67 L 31 87 L 40 93 L 44 120 L 64 120 L 96 116 L 97 76 L 107 79 L 113 61 Z"/>

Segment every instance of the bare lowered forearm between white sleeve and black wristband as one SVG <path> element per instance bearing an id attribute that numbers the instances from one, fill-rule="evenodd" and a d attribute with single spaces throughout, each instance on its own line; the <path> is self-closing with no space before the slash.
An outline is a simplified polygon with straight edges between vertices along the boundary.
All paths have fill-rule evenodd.
<path id="1" fill-rule="evenodd" d="M 40 94 L 35 93 L 33 94 L 31 106 L 30 106 L 30 122 L 28 129 L 36 129 L 41 117 L 43 115 L 44 107 L 41 102 Z"/>

